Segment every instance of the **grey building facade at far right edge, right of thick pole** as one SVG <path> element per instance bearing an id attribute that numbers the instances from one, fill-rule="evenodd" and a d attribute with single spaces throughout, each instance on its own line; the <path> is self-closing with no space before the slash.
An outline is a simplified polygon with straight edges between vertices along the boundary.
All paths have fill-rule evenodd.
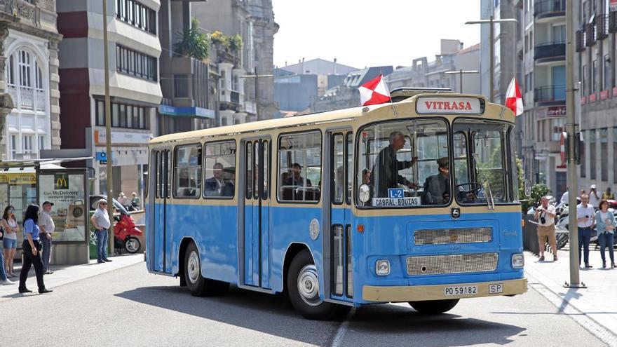
<path id="1" fill-rule="evenodd" d="M 583 138 L 577 189 L 586 191 L 617 185 L 617 8 L 610 3 L 581 1 L 576 16 Z"/>

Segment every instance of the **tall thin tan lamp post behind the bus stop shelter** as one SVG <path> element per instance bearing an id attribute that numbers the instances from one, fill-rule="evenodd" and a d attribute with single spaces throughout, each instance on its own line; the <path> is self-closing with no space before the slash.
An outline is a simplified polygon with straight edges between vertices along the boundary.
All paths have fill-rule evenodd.
<path id="1" fill-rule="evenodd" d="M 111 226 L 109 234 L 109 253 L 114 252 L 114 179 L 112 177 L 111 154 L 111 100 L 109 97 L 109 57 L 107 53 L 107 0 L 103 0 L 103 61 L 105 76 L 105 142 L 107 144 L 107 215 Z"/>

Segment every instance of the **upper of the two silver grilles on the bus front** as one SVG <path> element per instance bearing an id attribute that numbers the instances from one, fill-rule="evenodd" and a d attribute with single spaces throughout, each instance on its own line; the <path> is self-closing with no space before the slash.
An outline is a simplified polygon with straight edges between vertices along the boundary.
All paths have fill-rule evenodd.
<path id="1" fill-rule="evenodd" d="M 428 229 L 416 230 L 414 242 L 420 245 L 447 245 L 449 243 L 484 243 L 491 242 L 493 229 L 464 228 L 464 229 Z"/>

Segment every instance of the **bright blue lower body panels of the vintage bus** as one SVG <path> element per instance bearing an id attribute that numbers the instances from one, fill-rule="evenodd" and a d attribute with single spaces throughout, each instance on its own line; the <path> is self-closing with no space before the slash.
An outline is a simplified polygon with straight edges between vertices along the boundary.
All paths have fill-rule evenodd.
<path id="1" fill-rule="evenodd" d="M 162 268 L 163 206 L 155 205 L 154 270 Z M 168 218 L 166 233 L 169 246 L 166 250 L 167 270 L 171 274 L 179 272 L 178 252 L 183 238 L 192 238 L 198 245 L 203 275 L 215 280 L 238 283 L 238 223 L 235 206 L 222 205 L 181 205 L 166 206 Z M 259 285 L 258 278 L 258 233 L 251 225 L 257 225 L 254 213 L 256 207 L 245 206 L 245 275 L 247 283 Z M 323 277 L 323 231 L 330 226 L 322 225 L 322 207 L 269 207 L 262 215 L 262 287 L 273 292 L 283 291 L 283 264 L 285 254 L 292 243 L 304 244 L 311 250 L 320 278 Z M 353 245 L 353 302 L 365 304 L 362 300 L 363 285 L 440 285 L 447 283 L 473 283 L 493 280 L 523 278 L 522 269 L 511 266 L 514 253 L 522 252 L 522 230 L 520 212 L 489 212 L 480 214 L 464 213 L 453 220 L 444 215 L 407 215 L 357 217 L 344 215 L 344 210 L 332 210 L 334 224 L 351 224 Z M 147 207 L 149 211 L 149 207 Z M 148 212 L 147 212 L 148 213 Z M 348 212 L 347 212 L 348 213 Z M 351 218 L 350 218 L 351 217 Z M 309 224 L 317 219 L 320 234 L 316 240 L 309 235 Z M 349 220 L 351 219 L 351 221 Z M 340 222 L 339 222 L 340 221 Z M 342 223 L 341 223 L 342 224 Z M 359 233 L 358 224 L 364 224 L 365 231 Z M 490 226 L 492 238 L 488 243 L 458 243 L 448 245 L 415 245 L 414 231 L 422 229 L 470 228 Z M 150 229 L 148 229 L 150 232 Z M 268 250 L 270 250 L 268 252 Z M 411 255 L 468 254 L 498 252 L 496 271 L 489 273 L 465 273 L 445 275 L 408 275 L 406 259 Z M 375 261 L 388 259 L 391 274 L 377 276 Z M 151 267 L 149 266 L 149 269 Z M 327 280 L 330 280 L 328 278 Z M 250 282 L 249 282 L 250 281 Z M 323 280 L 320 292 L 323 293 Z"/>

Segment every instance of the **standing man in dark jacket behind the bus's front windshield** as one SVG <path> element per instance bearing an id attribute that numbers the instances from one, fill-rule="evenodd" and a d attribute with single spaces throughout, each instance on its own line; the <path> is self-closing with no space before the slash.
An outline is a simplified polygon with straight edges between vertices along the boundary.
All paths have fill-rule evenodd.
<path id="1" fill-rule="evenodd" d="M 417 158 L 412 158 L 411 161 L 398 161 L 396 159 L 396 152 L 405 147 L 405 135 L 396 130 L 391 132 L 389 140 L 390 144 L 379 151 L 371 170 L 370 177 L 375 198 L 387 198 L 388 189 L 396 188 L 398 184 L 405 184 L 411 189 L 416 186 L 405 177 L 398 175 L 398 171 L 411 168 L 417 161 Z"/>

